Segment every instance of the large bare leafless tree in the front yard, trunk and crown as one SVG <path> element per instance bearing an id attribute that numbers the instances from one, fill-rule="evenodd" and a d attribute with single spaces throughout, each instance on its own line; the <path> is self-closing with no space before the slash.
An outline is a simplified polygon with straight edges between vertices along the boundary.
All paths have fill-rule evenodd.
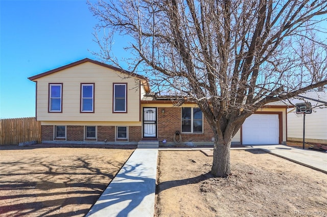
<path id="1" fill-rule="evenodd" d="M 268 102 L 327 84 L 291 48 L 325 21 L 326 1 L 120 0 L 90 4 L 99 18 L 101 58 L 118 34 L 130 37 L 132 71 L 196 102 L 215 135 L 212 174 L 230 174 L 230 144 L 244 120 Z M 317 65 L 317 68 L 320 66 Z"/>

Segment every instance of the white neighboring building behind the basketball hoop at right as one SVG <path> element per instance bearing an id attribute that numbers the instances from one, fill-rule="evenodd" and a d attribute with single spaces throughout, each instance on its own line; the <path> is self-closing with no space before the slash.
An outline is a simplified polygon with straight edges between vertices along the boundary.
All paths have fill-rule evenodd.
<path id="1" fill-rule="evenodd" d="M 310 102 L 313 109 L 306 115 L 305 141 L 308 143 L 327 144 L 327 93 L 307 92 L 292 99 L 293 104 Z M 287 114 L 287 140 L 303 140 L 303 115 L 297 115 L 295 108 L 289 109 Z"/>

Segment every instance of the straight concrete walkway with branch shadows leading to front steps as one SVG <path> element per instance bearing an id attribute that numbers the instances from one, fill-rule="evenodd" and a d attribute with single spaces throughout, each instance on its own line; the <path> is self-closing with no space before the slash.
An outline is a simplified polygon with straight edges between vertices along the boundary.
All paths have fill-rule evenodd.
<path id="1" fill-rule="evenodd" d="M 154 214 L 158 149 L 136 149 L 86 216 Z"/>

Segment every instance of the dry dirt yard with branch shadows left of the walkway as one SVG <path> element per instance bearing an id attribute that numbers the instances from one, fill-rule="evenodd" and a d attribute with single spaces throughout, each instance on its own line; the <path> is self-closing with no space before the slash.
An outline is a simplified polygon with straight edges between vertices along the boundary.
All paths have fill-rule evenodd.
<path id="1" fill-rule="evenodd" d="M 40 147 L 0 147 L 0 216 L 84 216 L 133 152 Z"/>

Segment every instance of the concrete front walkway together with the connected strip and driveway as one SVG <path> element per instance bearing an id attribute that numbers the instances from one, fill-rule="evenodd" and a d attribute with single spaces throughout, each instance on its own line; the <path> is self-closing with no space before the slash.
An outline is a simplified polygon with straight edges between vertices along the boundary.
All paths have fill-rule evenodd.
<path id="1" fill-rule="evenodd" d="M 327 174 L 327 153 L 325 152 L 284 145 L 244 146 L 231 149 L 262 149 Z M 212 147 L 137 148 L 86 216 L 153 217 L 158 150 L 213 152 Z"/>

